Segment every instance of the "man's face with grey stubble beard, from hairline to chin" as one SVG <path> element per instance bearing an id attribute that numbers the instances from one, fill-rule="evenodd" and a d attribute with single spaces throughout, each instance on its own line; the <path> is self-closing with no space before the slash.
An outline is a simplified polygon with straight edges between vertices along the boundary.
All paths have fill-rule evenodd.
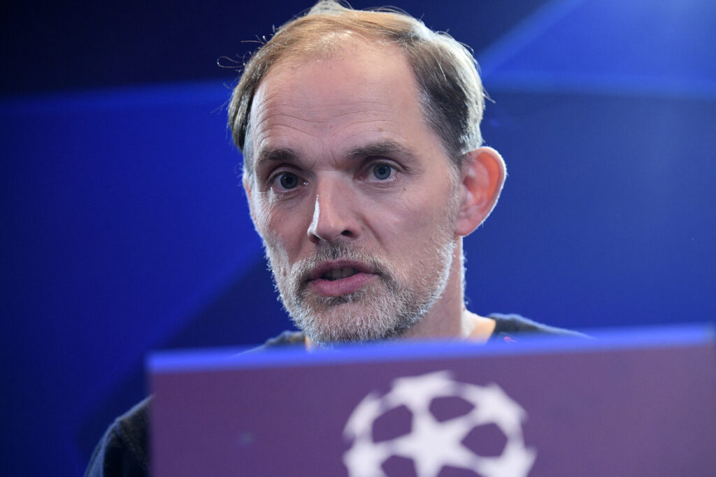
<path id="1" fill-rule="evenodd" d="M 418 94 L 399 49 L 359 44 L 284 59 L 253 99 L 253 220 L 317 343 L 400 335 L 440 308 L 458 177 Z"/>

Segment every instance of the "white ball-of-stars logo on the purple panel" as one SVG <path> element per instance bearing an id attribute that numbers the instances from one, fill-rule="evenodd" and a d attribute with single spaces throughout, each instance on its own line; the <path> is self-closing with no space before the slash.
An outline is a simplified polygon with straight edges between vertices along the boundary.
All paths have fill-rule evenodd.
<path id="1" fill-rule="evenodd" d="M 446 398 L 463 403 L 464 412 L 436 415 L 435 403 Z M 403 414 L 405 432 L 379 438 L 376 426 L 389 413 Z M 448 371 L 397 378 L 386 394 L 370 393 L 350 415 L 344 437 L 352 445 L 343 462 L 350 477 L 391 477 L 384 463 L 393 457 L 412 461 L 417 477 L 437 477 L 445 466 L 481 477 L 523 477 L 536 458 L 523 440 L 525 417 L 525 410 L 496 384 L 458 383 Z M 480 426 L 493 425 L 504 446 L 497 455 L 481 456 L 480 448 L 466 441 Z"/>

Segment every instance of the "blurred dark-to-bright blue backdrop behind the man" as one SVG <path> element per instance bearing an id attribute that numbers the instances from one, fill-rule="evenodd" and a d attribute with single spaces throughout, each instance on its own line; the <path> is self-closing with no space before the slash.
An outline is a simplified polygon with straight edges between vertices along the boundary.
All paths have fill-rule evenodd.
<path id="1" fill-rule="evenodd" d="M 226 132 L 232 66 L 308 7 L 4 7 L 3 475 L 78 475 L 148 350 L 289 328 Z M 354 1 L 356 7 L 372 2 Z M 508 163 L 468 303 L 568 328 L 713 321 L 716 4 L 402 1 L 473 46 Z"/>

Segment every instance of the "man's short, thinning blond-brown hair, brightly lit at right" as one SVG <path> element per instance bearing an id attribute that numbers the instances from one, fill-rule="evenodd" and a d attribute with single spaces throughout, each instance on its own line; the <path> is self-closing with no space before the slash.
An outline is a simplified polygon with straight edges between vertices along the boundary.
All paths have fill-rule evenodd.
<path id="1" fill-rule="evenodd" d="M 346 32 L 402 49 L 420 89 L 424 119 L 459 169 L 463 155 L 483 142 L 480 121 L 485 91 L 470 51 L 452 36 L 432 31 L 402 11 L 354 10 L 334 0 L 321 0 L 304 16 L 276 30 L 246 62 L 233 89 L 228 128 L 234 144 L 244 155 L 244 174 L 253 169 L 246 144 L 251 103 L 269 69 L 283 58 L 326 54 L 331 49 L 331 42 L 326 40 Z"/>

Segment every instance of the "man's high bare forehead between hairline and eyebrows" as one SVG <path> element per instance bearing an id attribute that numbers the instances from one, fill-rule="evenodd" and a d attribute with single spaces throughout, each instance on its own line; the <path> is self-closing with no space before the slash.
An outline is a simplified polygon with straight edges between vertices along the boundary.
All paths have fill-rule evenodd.
<path id="1" fill-rule="evenodd" d="M 253 99 L 251 155 L 281 148 L 340 154 L 341 148 L 380 141 L 440 147 L 419 98 L 412 68 L 397 46 L 359 41 L 328 56 L 281 60 Z"/>

